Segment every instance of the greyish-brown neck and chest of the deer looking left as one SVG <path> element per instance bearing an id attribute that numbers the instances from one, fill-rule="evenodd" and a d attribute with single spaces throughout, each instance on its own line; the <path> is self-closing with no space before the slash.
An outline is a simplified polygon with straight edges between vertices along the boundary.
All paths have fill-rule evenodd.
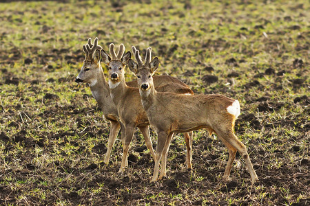
<path id="1" fill-rule="evenodd" d="M 100 66 L 96 80 L 90 83 L 90 91 L 96 102 L 101 107 L 104 115 L 116 115 L 117 111 L 110 97 L 109 84 L 105 80 L 103 69 Z"/>

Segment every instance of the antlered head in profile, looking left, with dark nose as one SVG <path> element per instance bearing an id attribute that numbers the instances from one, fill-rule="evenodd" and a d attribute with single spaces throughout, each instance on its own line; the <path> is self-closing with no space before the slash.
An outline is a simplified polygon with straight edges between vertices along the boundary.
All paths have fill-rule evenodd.
<path id="1" fill-rule="evenodd" d="M 90 86 L 96 84 L 98 73 L 100 72 L 100 50 L 102 47 L 98 45 L 98 38 L 94 39 L 92 44 L 92 38 L 88 38 L 87 45 L 83 45 L 83 51 L 85 53 L 85 60 L 79 75 L 76 77 L 75 82 L 85 82 Z"/>

